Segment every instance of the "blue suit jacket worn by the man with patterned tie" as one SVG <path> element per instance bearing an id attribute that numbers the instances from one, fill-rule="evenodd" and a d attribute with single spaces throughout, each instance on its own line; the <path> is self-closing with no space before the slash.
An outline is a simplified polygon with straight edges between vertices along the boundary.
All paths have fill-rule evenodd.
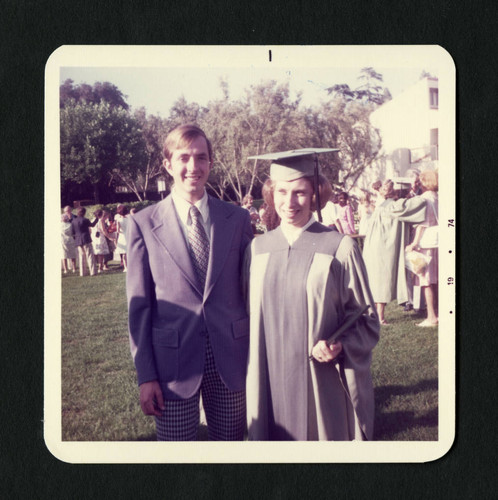
<path id="1" fill-rule="evenodd" d="M 253 237 L 249 212 L 209 197 L 211 246 L 201 290 L 171 196 L 129 217 L 128 319 L 138 383 L 164 397 L 192 396 L 204 371 L 206 334 L 231 391 L 245 389 L 249 318 L 240 283 Z"/>

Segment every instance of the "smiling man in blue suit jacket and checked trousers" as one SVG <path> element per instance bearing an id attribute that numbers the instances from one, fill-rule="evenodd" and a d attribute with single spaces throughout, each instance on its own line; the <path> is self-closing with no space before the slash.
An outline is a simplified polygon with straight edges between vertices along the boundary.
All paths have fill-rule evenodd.
<path id="1" fill-rule="evenodd" d="M 193 125 L 164 145 L 171 195 L 128 224 L 128 317 L 140 404 L 158 440 L 195 440 L 202 394 L 210 440 L 241 440 L 249 318 L 240 275 L 247 210 L 208 196 L 211 144 Z"/>

